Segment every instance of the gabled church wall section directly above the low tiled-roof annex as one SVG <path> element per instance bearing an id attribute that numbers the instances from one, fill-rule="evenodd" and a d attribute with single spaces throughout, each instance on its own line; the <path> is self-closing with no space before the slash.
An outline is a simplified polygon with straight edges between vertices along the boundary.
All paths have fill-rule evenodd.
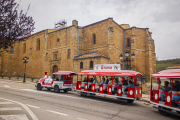
<path id="1" fill-rule="evenodd" d="M 83 27 L 83 43 L 81 54 L 98 51 L 108 56 L 108 20 Z M 93 44 L 93 35 L 96 35 L 96 44 Z"/>

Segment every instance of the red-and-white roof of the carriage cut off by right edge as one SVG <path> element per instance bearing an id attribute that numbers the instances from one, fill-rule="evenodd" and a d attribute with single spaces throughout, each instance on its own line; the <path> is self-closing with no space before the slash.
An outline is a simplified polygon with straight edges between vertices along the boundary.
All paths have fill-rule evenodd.
<path id="1" fill-rule="evenodd" d="M 152 74 L 151 77 L 175 77 L 180 78 L 180 69 L 168 69 Z"/>

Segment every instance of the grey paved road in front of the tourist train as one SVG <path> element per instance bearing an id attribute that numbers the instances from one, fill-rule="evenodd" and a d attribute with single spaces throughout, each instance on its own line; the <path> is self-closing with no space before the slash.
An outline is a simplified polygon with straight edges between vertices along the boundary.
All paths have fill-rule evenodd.
<path id="1" fill-rule="evenodd" d="M 37 91 L 34 84 L 0 79 L 0 103 L 3 102 L 14 104 L 0 105 L 0 120 L 1 115 L 19 114 L 29 120 L 36 117 L 39 120 L 178 120 L 177 116 L 162 116 L 152 105 L 146 106 L 139 101 L 128 104 L 110 98 L 80 97 L 75 92 Z M 21 110 L 1 110 L 5 107 Z"/>

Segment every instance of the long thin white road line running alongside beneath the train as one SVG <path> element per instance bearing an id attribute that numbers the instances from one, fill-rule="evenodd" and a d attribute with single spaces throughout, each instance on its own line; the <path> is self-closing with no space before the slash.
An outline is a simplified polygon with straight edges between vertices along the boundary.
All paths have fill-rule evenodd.
<path id="1" fill-rule="evenodd" d="M 43 94 L 56 95 L 56 96 L 62 96 L 62 97 L 68 97 L 68 98 L 74 98 L 74 99 L 80 99 L 80 100 L 88 100 L 88 101 L 93 101 L 93 102 L 96 101 L 96 102 L 100 102 L 100 103 L 108 103 L 108 102 L 102 102 L 102 101 L 98 101 L 98 100 L 90 100 L 90 99 L 86 99 L 86 98 L 72 97 L 72 96 L 61 95 L 61 94 L 57 94 L 57 93 L 49 93 L 49 92 L 45 92 L 45 91 L 37 91 L 37 90 L 32 90 L 32 89 L 21 89 L 21 90 L 43 93 Z"/>

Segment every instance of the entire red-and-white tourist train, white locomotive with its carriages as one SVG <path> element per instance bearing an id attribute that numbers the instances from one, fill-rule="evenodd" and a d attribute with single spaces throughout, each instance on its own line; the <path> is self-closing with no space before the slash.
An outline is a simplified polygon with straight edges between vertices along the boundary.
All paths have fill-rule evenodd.
<path id="1" fill-rule="evenodd" d="M 108 64 L 110 65 L 110 64 Z M 95 70 L 58 71 L 53 78 L 47 77 L 36 83 L 37 90 L 54 89 L 58 93 L 71 91 L 73 77 L 77 76 L 76 91 L 81 96 L 111 97 L 128 103 L 142 99 L 142 74 L 132 70 L 120 70 L 117 64 L 113 67 L 99 65 Z M 155 81 L 155 83 L 153 83 Z M 161 85 L 164 83 L 164 86 Z M 150 104 L 162 115 L 180 116 L 180 69 L 163 70 L 151 75 Z"/>

